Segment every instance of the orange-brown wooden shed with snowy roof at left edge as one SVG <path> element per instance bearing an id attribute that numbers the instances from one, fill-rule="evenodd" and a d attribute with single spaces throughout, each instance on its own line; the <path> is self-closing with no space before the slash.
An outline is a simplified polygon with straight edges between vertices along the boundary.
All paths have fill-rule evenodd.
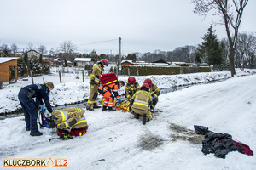
<path id="1" fill-rule="evenodd" d="M 0 57 L 0 81 L 17 82 L 17 57 Z"/>

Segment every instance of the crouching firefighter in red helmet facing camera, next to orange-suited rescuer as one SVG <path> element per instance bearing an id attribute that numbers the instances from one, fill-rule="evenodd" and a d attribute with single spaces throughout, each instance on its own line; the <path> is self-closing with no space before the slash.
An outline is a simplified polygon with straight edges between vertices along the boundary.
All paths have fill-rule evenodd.
<path id="1" fill-rule="evenodd" d="M 125 86 L 125 97 L 127 98 L 127 101 L 130 101 L 133 94 L 135 94 L 140 89 L 141 89 L 141 87 L 136 82 L 135 77 L 129 77 L 128 78 L 128 83 Z"/>

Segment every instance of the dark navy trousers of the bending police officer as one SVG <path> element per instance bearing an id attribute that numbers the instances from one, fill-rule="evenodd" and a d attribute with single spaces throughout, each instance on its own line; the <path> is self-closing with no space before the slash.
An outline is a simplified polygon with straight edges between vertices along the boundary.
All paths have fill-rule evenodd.
<path id="1" fill-rule="evenodd" d="M 20 90 L 18 94 L 20 105 L 24 111 L 26 128 L 31 129 L 31 133 L 38 132 L 38 106 L 33 99 L 29 99 L 25 91 Z"/>

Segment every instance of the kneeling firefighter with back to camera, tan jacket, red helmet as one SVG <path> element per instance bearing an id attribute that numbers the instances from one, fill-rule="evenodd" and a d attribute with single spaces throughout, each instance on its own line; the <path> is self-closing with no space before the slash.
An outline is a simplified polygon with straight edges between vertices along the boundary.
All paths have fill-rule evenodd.
<path id="1" fill-rule="evenodd" d="M 138 119 L 139 116 L 143 116 L 143 125 L 152 119 L 152 114 L 148 109 L 152 105 L 152 97 L 148 89 L 149 85 L 144 83 L 141 90 L 133 95 L 130 103 L 134 118 Z"/>

